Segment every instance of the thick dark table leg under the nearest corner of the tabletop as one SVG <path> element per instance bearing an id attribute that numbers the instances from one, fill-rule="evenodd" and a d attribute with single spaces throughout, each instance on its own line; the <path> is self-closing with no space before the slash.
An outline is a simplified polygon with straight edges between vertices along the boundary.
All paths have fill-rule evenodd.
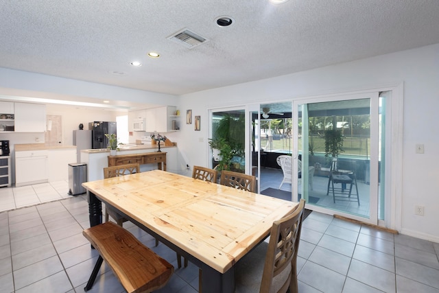
<path id="1" fill-rule="evenodd" d="M 210 266 L 202 266 L 202 291 L 209 293 L 235 292 L 235 266 L 224 274 Z"/>

